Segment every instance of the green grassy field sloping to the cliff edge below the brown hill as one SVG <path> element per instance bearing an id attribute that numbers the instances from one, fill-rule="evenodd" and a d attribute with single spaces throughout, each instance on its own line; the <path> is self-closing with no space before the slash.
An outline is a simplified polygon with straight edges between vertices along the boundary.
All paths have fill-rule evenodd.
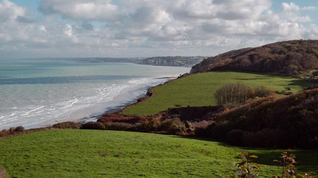
<path id="1" fill-rule="evenodd" d="M 207 72 L 177 79 L 167 85 L 156 87 L 154 96 L 128 108 L 123 114 L 156 114 L 169 107 L 175 107 L 175 105 L 215 105 L 215 91 L 229 83 L 244 83 L 250 87 L 264 85 L 275 90 L 283 90 L 284 87 L 290 87 L 294 93 L 313 85 L 306 80 L 280 77 L 274 74 Z"/>

